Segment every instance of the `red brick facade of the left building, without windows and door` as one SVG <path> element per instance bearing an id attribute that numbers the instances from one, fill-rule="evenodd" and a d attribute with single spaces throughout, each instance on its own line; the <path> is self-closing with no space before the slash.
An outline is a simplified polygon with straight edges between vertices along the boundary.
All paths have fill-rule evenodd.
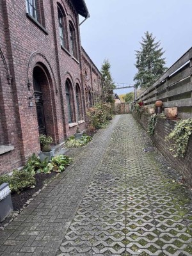
<path id="1" fill-rule="evenodd" d="M 11 152 L 0 155 L 0 173 L 10 172 L 26 162 L 33 152 L 40 151 L 38 122 L 33 96 L 33 70 L 42 70 L 41 87 L 47 134 L 54 144 L 74 134 L 67 117 L 66 80 L 71 84 L 72 122 L 77 122 L 76 84 L 79 84 L 82 119 L 85 117 L 82 56 L 79 19 L 69 1 L 42 0 L 41 23 L 37 26 L 26 15 L 26 1 L 0 2 L 0 145 L 13 145 Z M 76 58 L 69 44 L 61 48 L 58 6 L 65 13 L 65 34 L 69 40 L 69 23 L 76 37 Z M 6 62 L 6 65 L 4 64 Z M 12 76 L 12 83 L 8 83 Z M 33 106 L 29 106 L 32 102 Z M 85 124 L 80 125 L 84 130 Z"/>

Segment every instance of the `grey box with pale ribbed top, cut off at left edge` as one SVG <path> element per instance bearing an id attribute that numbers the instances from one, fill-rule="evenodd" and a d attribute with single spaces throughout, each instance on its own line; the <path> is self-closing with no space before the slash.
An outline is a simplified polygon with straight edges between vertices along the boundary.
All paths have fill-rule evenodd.
<path id="1" fill-rule="evenodd" d="M 0 222 L 13 211 L 12 196 L 8 183 L 0 186 Z"/>

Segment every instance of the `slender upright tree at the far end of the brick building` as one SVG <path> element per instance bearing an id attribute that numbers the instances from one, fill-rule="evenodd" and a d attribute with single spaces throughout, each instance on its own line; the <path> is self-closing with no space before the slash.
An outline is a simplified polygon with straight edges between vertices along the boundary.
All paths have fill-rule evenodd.
<path id="1" fill-rule="evenodd" d="M 111 64 L 108 60 L 104 60 L 104 63 L 102 64 L 102 68 L 100 70 L 102 78 L 101 78 L 101 84 L 102 84 L 102 100 L 104 102 L 113 102 L 113 90 L 115 89 L 115 84 L 113 82 L 113 79 L 111 77 L 110 72 Z"/>

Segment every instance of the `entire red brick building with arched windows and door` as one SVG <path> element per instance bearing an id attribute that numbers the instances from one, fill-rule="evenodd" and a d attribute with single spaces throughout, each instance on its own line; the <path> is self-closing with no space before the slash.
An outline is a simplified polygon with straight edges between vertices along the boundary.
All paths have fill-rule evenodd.
<path id="1" fill-rule="evenodd" d="M 99 97 L 100 72 L 81 47 L 84 0 L 0 2 L 0 173 L 40 152 L 39 134 L 54 145 L 85 128 Z"/>

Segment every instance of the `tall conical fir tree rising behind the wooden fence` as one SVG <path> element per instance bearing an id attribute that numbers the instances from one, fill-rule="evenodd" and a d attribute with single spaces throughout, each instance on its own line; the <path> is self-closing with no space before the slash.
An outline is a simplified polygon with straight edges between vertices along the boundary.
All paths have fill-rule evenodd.
<path id="1" fill-rule="evenodd" d="M 148 88 L 151 86 L 167 69 L 164 67 L 165 58 L 162 58 L 164 51 L 160 47 L 160 41 L 155 42 L 156 37 L 152 33 L 145 33 L 140 42 L 140 51 L 136 51 L 137 74 L 134 76 L 136 88 Z"/>

